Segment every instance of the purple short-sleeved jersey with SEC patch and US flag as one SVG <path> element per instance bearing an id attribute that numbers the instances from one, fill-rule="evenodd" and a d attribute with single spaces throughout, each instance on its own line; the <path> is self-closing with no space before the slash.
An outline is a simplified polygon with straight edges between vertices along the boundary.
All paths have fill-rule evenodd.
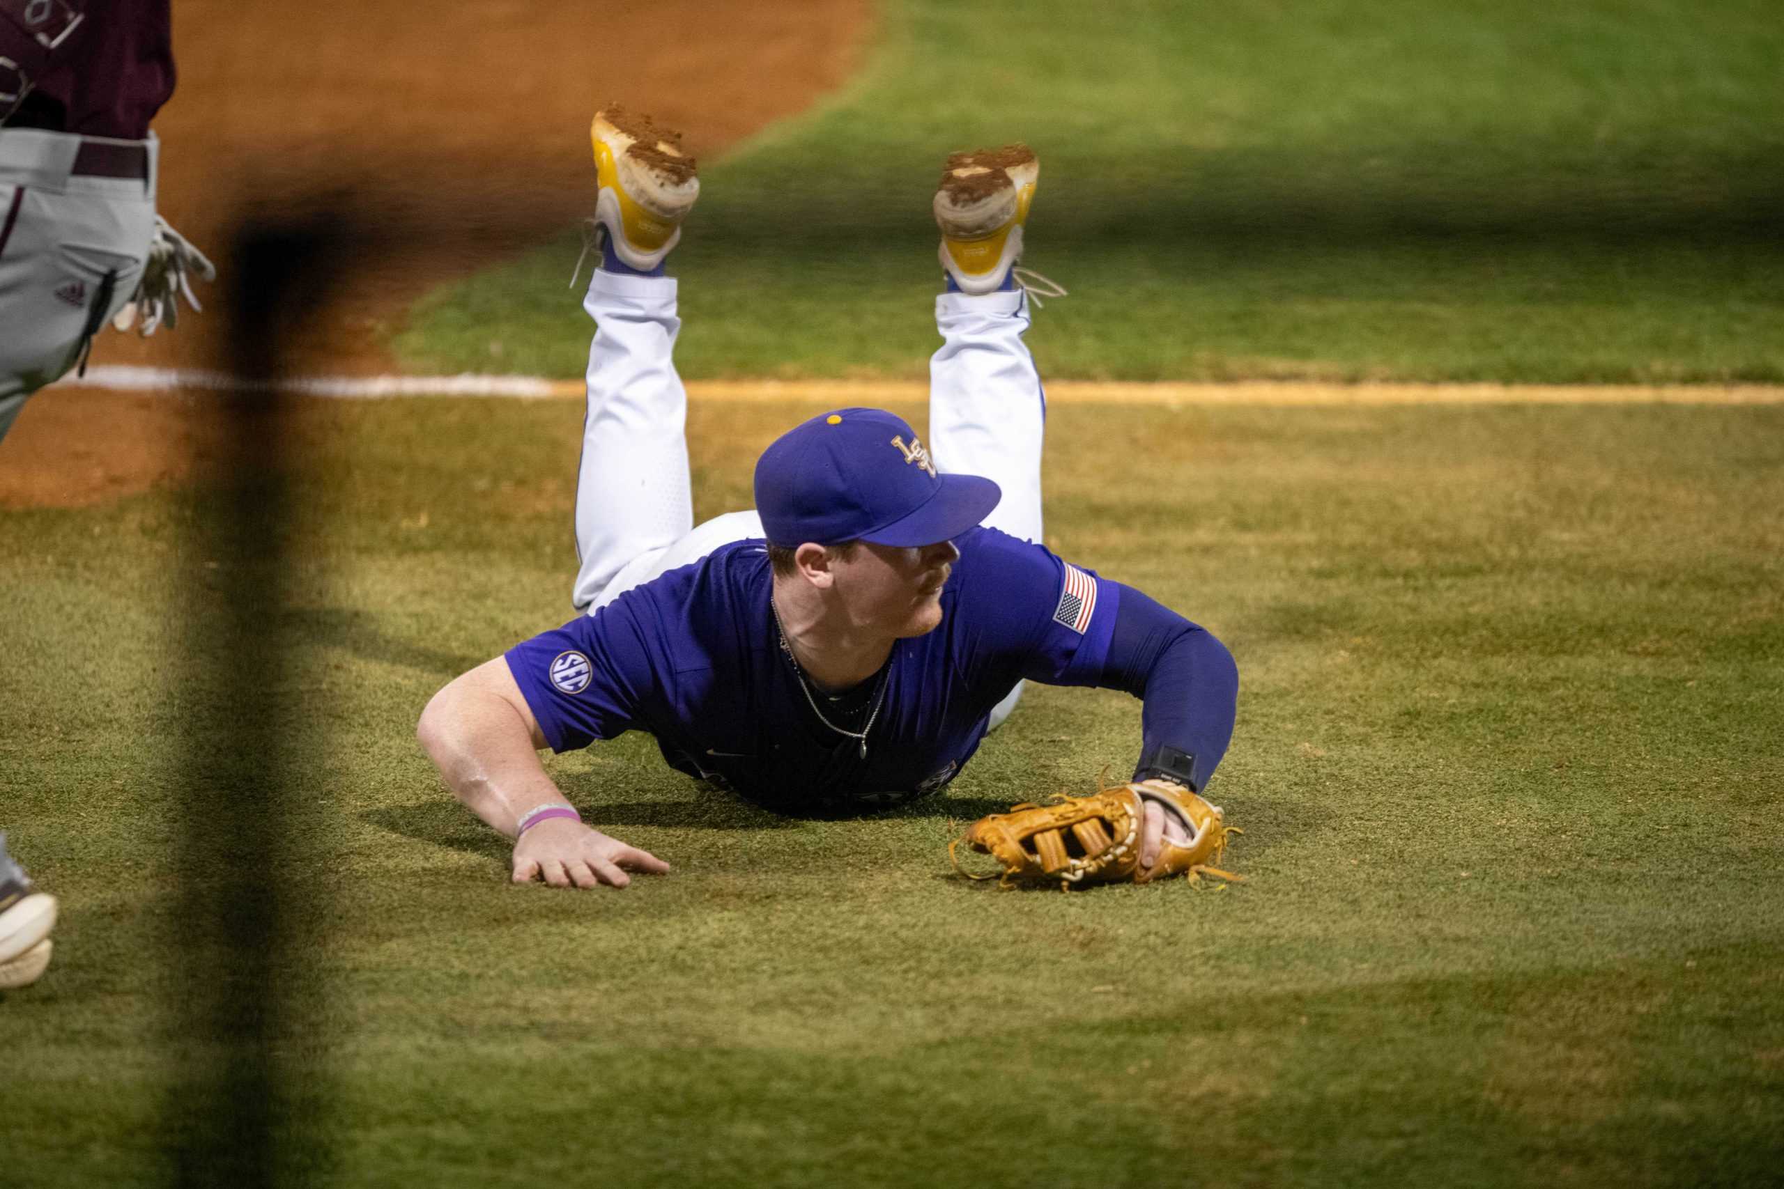
<path id="1" fill-rule="evenodd" d="M 997 529 L 954 544 L 942 624 L 892 647 L 865 758 L 780 647 L 762 540 L 508 649 L 508 668 L 553 750 L 649 731 L 671 767 L 760 804 L 892 804 L 947 784 L 1017 681 L 1095 685 L 1110 647 L 1115 583 Z"/>

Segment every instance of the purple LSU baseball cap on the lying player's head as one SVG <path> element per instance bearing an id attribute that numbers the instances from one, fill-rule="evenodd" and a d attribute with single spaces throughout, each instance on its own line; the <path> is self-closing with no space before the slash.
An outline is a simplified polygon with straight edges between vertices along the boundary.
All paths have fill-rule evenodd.
<path id="1" fill-rule="evenodd" d="M 933 545 L 976 526 L 1001 497 L 976 474 L 938 474 L 910 422 L 881 408 L 812 417 L 756 460 L 762 531 L 789 549 L 846 540 Z"/>

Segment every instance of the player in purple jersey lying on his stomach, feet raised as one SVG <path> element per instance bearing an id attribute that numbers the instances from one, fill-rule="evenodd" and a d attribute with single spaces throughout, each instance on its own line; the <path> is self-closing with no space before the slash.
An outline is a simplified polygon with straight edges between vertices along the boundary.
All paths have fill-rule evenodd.
<path id="1" fill-rule="evenodd" d="M 1233 734 L 1231 654 L 1040 544 L 1045 394 L 1015 276 L 1035 153 L 956 153 L 935 196 L 947 291 L 931 442 L 888 412 L 828 410 L 764 451 L 755 512 L 696 528 L 664 276 L 699 193 L 694 160 L 619 109 L 592 139 L 585 613 L 450 683 L 417 727 L 458 799 L 516 838 L 514 881 L 623 888 L 669 870 L 585 824 L 539 761 L 633 729 L 671 767 L 767 808 L 847 813 L 946 786 L 1024 681 L 1106 686 L 1145 702 L 1138 774 L 1202 790 Z M 1176 829 L 1147 809 L 1147 868 Z"/>

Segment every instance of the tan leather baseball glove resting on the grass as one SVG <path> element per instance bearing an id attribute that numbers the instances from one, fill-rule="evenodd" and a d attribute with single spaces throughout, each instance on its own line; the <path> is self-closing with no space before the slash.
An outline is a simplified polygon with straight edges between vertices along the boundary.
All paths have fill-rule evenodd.
<path id="1" fill-rule="evenodd" d="M 1190 841 L 1176 843 L 1167 834 L 1160 841 L 1158 863 L 1140 870 L 1140 829 L 1149 800 L 1165 809 L 1167 820 L 1176 818 Z M 1242 881 L 1211 863 L 1220 859 L 1231 834 L 1243 832 L 1226 824 L 1220 806 L 1208 804 L 1181 784 L 1154 779 L 992 813 L 947 843 L 947 857 L 967 879 L 997 879 L 1004 888 L 1051 881 L 1060 881 L 1063 890 L 1127 879 L 1145 884 L 1170 875 L 1186 875 L 1192 882 L 1202 875 Z M 1003 872 L 976 875 L 962 868 L 960 843 L 992 856 Z"/>

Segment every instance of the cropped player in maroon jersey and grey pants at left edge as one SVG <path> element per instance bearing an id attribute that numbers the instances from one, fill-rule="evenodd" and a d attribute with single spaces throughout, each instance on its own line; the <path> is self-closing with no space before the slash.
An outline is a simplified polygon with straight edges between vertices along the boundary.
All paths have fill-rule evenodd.
<path id="1" fill-rule="evenodd" d="M 155 214 L 169 0 L 0 0 L 0 439 L 107 319 L 152 335 L 205 257 Z"/>

